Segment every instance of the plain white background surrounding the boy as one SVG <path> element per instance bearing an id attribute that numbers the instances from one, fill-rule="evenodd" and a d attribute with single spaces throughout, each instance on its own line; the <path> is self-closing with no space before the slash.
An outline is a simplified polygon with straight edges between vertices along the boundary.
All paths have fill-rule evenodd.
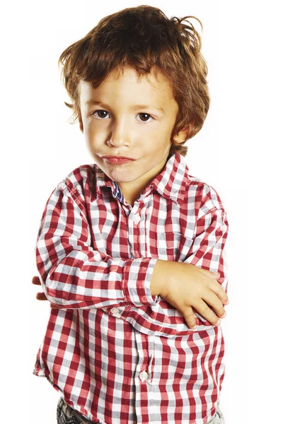
<path id="1" fill-rule="evenodd" d="M 49 316 L 35 300 L 35 240 L 47 198 L 93 163 L 59 78 L 59 54 L 98 20 L 143 2 L 11 1 L 1 23 L 1 422 L 55 424 L 59 393 L 33 375 Z M 275 1 L 147 1 L 197 16 L 212 103 L 187 141 L 190 175 L 229 220 L 226 424 L 282 422 L 282 32 Z M 192 20 L 200 30 L 197 22 Z M 281 259 L 281 261 L 280 261 Z M 4 399 L 3 399 L 4 394 Z"/>

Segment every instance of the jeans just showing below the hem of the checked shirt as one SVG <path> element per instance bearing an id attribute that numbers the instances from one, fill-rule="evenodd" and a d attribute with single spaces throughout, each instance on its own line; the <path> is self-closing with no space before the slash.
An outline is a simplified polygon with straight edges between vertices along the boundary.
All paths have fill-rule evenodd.
<path id="1" fill-rule="evenodd" d="M 93 421 L 82 416 L 78 411 L 75 411 L 71 406 L 66 404 L 64 398 L 60 398 L 57 405 L 57 424 L 91 424 Z M 216 404 L 215 415 L 207 421 L 207 424 L 225 424 L 224 416 L 220 411 L 219 404 Z"/>

